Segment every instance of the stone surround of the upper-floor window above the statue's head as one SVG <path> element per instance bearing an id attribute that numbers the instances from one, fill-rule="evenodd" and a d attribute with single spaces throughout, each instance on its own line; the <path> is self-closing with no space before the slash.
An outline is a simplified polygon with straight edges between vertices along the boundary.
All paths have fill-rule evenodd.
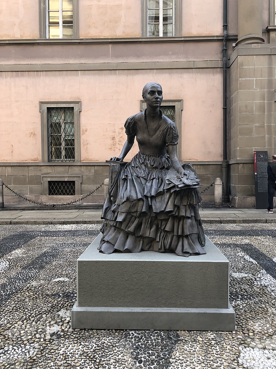
<path id="1" fill-rule="evenodd" d="M 182 36 L 182 0 L 174 0 L 174 12 L 173 37 Z M 142 0 L 142 37 L 152 38 L 148 36 L 148 0 Z"/>

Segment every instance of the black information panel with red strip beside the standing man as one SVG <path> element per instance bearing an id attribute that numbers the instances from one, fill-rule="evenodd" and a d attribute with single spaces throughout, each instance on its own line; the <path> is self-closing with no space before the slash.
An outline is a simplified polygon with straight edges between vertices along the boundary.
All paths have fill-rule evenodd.
<path id="1" fill-rule="evenodd" d="M 268 152 L 254 151 L 256 209 L 268 206 Z"/>

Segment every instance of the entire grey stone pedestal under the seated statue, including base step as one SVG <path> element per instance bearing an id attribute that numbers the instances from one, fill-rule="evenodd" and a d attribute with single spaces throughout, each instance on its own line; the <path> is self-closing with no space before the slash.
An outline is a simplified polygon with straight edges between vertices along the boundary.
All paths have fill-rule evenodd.
<path id="1" fill-rule="evenodd" d="M 77 261 L 72 328 L 233 331 L 229 261 L 206 238 L 206 255 L 99 253 Z"/>

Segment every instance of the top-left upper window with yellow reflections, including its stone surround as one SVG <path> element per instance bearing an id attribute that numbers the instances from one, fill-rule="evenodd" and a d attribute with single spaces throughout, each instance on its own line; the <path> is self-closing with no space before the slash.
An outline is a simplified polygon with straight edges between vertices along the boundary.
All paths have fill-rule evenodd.
<path id="1" fill-rule="evenodd" d="M 40 38 L 78 38 L 78 0 L 39 0 Z"/>

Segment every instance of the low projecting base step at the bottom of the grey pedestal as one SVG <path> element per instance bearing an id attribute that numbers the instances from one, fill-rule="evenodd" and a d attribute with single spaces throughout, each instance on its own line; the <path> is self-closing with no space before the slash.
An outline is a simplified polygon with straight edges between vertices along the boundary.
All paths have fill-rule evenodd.
<path id="1" fill-rule="evenodd" d="M 72 308 L 72 328 L 234 331 L 235 312 L 202 308 Z"/>

